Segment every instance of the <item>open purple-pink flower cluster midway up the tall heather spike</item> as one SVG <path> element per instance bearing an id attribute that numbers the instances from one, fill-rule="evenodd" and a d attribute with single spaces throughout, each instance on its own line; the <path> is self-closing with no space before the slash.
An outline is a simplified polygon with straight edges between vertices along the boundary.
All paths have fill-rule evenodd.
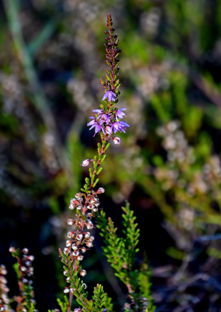
<path id="1" fill-rule="evenodd" d="M 105 98 L 108 97 L 108 100 L 115 101 L 115 93 L 112 91 L 107 91 L 105 95 L 103 96 L 102 100 L 105 100 Z M 103 132 L 103 134 L 107 133 L 109 135 L 112 134 L 112 132 L 116 133 L 117 131 L 123 131 L 125 133 L 126 127 L 129 127 L 129 124 L 127 124 L 125 121 L 121 121 L 118 119 L 122 119 L 125 115 L 123 112 L 126 110 L 126 108 L 120 108 L 119 110 L 114 110 L 110 114 L 107 114 L 104 110 L 93 110 L 95 113 L 94 115 L 98 114 L 97 117 L 90 117 L 90 119 L 93 119 L 90 121 L 87 125 L 91 126 L 91 129 L 95 128 L 95 134 L 97 132 Z M 126 116 L 127 117 L 127 116 Z M 104 125 L 104 127 L 103 127 Z M 95 136 L 94 134 L 94 136 Z M 120 138 L 117 138 L 118 140 L 115 140 L 117 143 L 120 144 Z"/>

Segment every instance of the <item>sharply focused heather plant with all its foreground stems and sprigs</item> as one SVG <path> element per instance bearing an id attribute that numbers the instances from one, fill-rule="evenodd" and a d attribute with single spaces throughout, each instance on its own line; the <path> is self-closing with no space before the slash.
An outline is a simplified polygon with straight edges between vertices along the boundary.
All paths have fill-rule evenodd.
<path id="1" fill-rule="evenodd" d="M 134 269 L 136 261 L 135 255 L 138 252 L 136 245 L 138 243 L 139 229 L 134 223 L 135 217 L 133 211 L 129 209 L 129 204 L 122 207 L 124 214 L 123 225 L 125 229 L 123 233 L 125 237 L 118 237 L 116 228 L 111 218 L 106 219 L 106 214 L 102 209 L 99 209 L 100 202 L 98 195 L 104 193 L 103 188 L 95 190 L 99 179 L 97 176 L 101 173 L 101 163 L 106 157 L 106 150 L 110 146 L 107 143 L 112 139 L 115 144 L 121 144 L 119 137 L 116 137 L 116 132 L 123 131 L 129 124 L 122 121 L 125 116 L 124 110 L 115 108 L 118 102 L 120 91 L 120 81 L 118 79 L 120 49 L 117 48 L 119 39 L 117 34 L 114 34 L 114 27 L 112 27 L 111 15 L 107 16 L 107 28 L 105 31 L 107 41 L 104 46 L 106 48 L 106 64 L 110 69 L 106 69 L 106 81 L 100 80 L 101 85 L 105 89 L 105 94 L 102 98 L 105 104 L 100 104 L 100 109 L 93 110 L 94 114 L 92 121 L 87 125 L 91 129 L 95 129 L 95 134 L 100 133 L 101 143 L 97 144 L 98 154 L 93 159 L 85 159 L 82 166 L 86 167 L 93 163 L 93 169 L 89 168 L 90 178 L 85 179 L 85 184 L 81 188 L 81 193 L 77 193 L 75 198 L 70 201 L 69 208 L 76 209 L 76 218 L 68 219 L 68 225 L 71 226 L 67 233 L 68 240 L 66 241 L 66 248 L 62 251 L 59 249 L 59 255 L 63 263 L 63 274 L 66 276 L 68 286 L 64 288 L 64 302 L 58 299 L 59 306 L 62 312 L 70 312 L 72 308 L 73 297 L 76 298 L 79 307 L 74 309 L 75 312 L 111 312 L 113 305 L 111 298 L 104 293 L 103 286 L 97 284 L 94 288 L 92 300 L 87 299 L 87 292 L 85 289 L 87 285 L 83 283 L 82 277 L 86 275 L 86 271 L 82 268 L 81 261 L 84 253 L 93 246 L 94 237 L 88 232 L 94 225 L 92 218 L 96 220 L 96 227 L 100 229 L 100 235 L 104 237 L 103 247 L 104 254 L 111 266 L 115 269 L 115 275 L 126 285 L 128 289 L 129 302 L 125 303 L 124 309 L 129 311 L 151 311 L 155 310 L 153 306 L 153 298 L 150 291 L 148 262 L 146 256 L 142 261 L 140 269 Z M 94 134 L 94 135 L 95 135 Z M 93 221 L 94 222 L 94 221 Z M 17 301 L 17 311 L 37 311 L 35 309 L 35 301 L 33 299 L 34 293 L 31 287 L 30 276 L 33 275 L 31 261 L 33 256 L 27 256 L 27 249 L 23 249 L 23 256 L 20 258 L 19 250 L 10 247 L 12 255 L 17 258 L 15 265 L 20 294 L 14 300 Z M 9 299 L 7 297 L 8 288 L 6 286 L 7 280 L 4 278 L 6 269 L 1 266 L 0 278 L 0 310 L 10 311 Z M 82 277 L 80 277 L 80 276 Z M 67 295 L 69 298 L 67 298 Z M 57 309 L 53 310 L 57 311 Z"/>

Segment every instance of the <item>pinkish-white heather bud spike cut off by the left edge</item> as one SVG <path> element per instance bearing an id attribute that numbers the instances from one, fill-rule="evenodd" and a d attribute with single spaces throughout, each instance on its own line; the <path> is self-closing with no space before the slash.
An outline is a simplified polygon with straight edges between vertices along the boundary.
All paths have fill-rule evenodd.
<path id="1" fill-rule="evenodd" d="M 9 310 L 9 298 L 8 292 L 9 288 L 7 287 L 7 279 L 4 275 L 7 274 L 6 267 L 2 264 L 0 265 L 0 311 L 8 311 Z"/>

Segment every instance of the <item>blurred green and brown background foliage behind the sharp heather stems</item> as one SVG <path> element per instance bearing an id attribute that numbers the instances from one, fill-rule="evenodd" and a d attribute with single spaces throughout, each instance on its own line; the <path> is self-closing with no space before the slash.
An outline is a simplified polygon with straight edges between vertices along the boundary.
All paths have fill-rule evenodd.
<path id="1" fill-rule="evenodd" d="M 13 263 L 10 244 L 28 247 L 37 308 L 57 307 L 68 202 L 99 140 L 87 122 L 103 95 L 107 12 L 122 49 L 118 107 L 131 127 L 103 164 L 102 205 L 120 230 L 129 199 L 157 311 L 220 311 L 220 0 L 2 1 L 1 263 Z M 126 289 L 94 235 L 82 264 L 88 291 L 102 283 L 120 310 Z"/>

